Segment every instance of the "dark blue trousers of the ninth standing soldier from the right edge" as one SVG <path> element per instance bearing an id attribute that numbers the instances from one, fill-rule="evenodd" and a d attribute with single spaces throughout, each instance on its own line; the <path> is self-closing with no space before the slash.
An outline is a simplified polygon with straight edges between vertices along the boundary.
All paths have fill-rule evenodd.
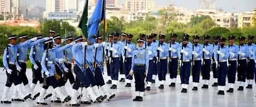
<path id="1" fill-rule="evenodd" d="M 178 58 L 172 59 L 171 63 L 169 63 L 169 71 L 170 71 L 170 78 L 177 78 L 177 70 L 178 70 Z"/>

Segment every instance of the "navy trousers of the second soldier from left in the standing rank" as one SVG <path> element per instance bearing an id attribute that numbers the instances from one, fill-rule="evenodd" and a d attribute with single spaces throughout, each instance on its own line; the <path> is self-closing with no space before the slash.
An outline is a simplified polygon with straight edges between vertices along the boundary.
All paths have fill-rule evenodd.
<path id="1" fill-rule="evenodd" d="M 110 62 L 112 80 L 118 80 L 119 63 L 119 57 L 113 57 L 112 62 Z"/>

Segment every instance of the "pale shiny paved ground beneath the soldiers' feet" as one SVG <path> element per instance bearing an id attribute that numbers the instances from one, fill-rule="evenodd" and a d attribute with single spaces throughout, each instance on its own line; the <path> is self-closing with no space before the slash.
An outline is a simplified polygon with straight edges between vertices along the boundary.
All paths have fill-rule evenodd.
<path id="1" fill-rule="evenodd" d="M 2 71 L 2 68 L 0 69 Z M 27 75 L 31 82 L 31 70 L 28 69 Z M 0 72 L 0 95 L 2 97 L 3 87 L 5 84 L 6 76 L 4 72 Z M 167 78 L 169 76 L 167 75 Z M 167 80 L 169 81 L 169 79 Z M 134 84 L 132 84 L 132 88 L 125 88 L 124 83 L 118 83 L 118 89 L 116 90 L 116 97 L 111 102 L 103 102 L 103 103 L 95 103 L 92 105 L 82 105 L 82 106 L 104 106 L 104 107 L 185 107 L 185 106 L 193 106 L 193 107 L 206 107 L 206 106 L 230 106 L 230 107 L 255 107 L 256 106 L 256 97 L 255 97 L 255 85 L 253 85 L 253 89 L 245 89 L 243 92 L 238 92 L 235 89 L 235 93 L 228 94 L 224 96 L 217 95 L 217 87 L 211 87 L 209 89 L 201 89 L 197 92 L 192 91 L 191 88 L 191 79 L 190 85 L 187 94 L 180 93 L 181 85 L 179 85 L 180 80 L 177 80 L 177 87 L 170 88 L 168 85 L 165 85 L 164 90 L 159 90 L 158 84 L 156 83 L 151 89 L 150 92 L 146 92 L 146 96 L 144 97 L 143 102 L 133 102 L 132 98 L 134 98 Z M 169 83 L 168 83 L 169 84 Z M 212 81 L 210 82 L 212 84 Z M 110 87 L 110 85 L 108 85 Z M 202 86 L 202 84 L 199 84 Z M 237 88 L 238 86 L 235 86 Z M 38 89 L 38 87 L 36 88 Z M 10 90 L 9 96 L 12 95 L 13 87 Z M 71 86 L 67 85 L 68 93 L 71 94 Z M 49 102 L 49 101 L 47 101 Z M 34 101 L 28 100 L 26 102 L 13 102 L 12 104 L 0 104 L 0 106 L 15 106 L 15 107 L 32 107 L 39 106 L 36 105 Z M 54 104 L 51 103 L 47 106 L 68 106 L 67 104 Z"/>

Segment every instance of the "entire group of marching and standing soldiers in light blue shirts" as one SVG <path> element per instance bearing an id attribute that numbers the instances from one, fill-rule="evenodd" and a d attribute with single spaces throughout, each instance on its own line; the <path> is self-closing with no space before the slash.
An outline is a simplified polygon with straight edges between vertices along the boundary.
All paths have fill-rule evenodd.
<path id="1" fill-rule="evenodd" d="M 200 72 L 203 77 L 202 88 L 209 88 L 210 71 L 213 70 L 214 84 L 218 86 L 218 94 L 225 94 L 226 76 L 228 76 L 227 92 L 234 92 L 236 78 L 239 82 L 238 90 L 243 90 L 245 81 L 252 88 L 255 70 L 256 45 L 254 36 L 239 37 L 239 46 L 235 45 L 235 37 L 229 36 L 229 44 L 225 45 L 225 38 L 214 36 L 210 44 L 210 36 L 204 36 L 204 44 L 198 44 L 199 36 L 193 36 L 193 43 L 189 42 L 189 35 L 183 35 L 182 43 L 177 43 L 177 35 L 171 34 L 171 43 L 165 43 L 165 35 L 141 34 L 137 45 L 132 43 L 132 34 L 110 34 L 108 43 L 102 37 L 96 37 L 96 43 L 85 42 L 82 36 L 66 37 L 63 46 L 60 35 L 50 30 L 50 37 L 37 35 L 27 39 L 26 35 L 9 36 L 9 45 L 3 55 L 4 71 L 7 80 L 1 103 L 11 103 L 7 98 L 12 84 L 15 85 L 12 101 L 26 101 L 28 98 L 36 100 L 37 104 L 46 105 L 45 100 L 51 97 L 51 102 L 69 102 L 70 106 L 91 104 L 92 102 L 110 101 L 115 97 L 118 76 L 125 87 L 132 86 L 135 79 L 136 97 L 133 101 L 143 101 L 145 90 L 150 90 L 158 75 L 159 89 L 163 89 L 167 69 L 170 71 L 171 84 L 175 87 L 177 71 L 182 85 L 182 93 L 187 93 L 190 69 L 193 76 L 193 90 L 198 90 Z M 29 59 L 32 65 L 33 81 L 28 84 L 26 76 L 26 59 L 30 48 Z M 74 67 L 72 62 L 74 61 Z M 107 84 L 112 84 L 111 90 L 103 79 L 103 66 L 106 62 Z M 75 76 L 73 75 L 75 73 Z M 119 74 L 120 73 L 120 74 Z M 145 81 L 146 78 L 146 81 Z M 247 79 L 247 80 L 246 80 Z M 65 85 L 69 80 L 73 91 L 68 95 Z M 26 90 L 22 90 L 22 84 Z M 39 83 L 40 90 L 35 87 Z M 52 93 L 46 95 L 49 86 Z M 79 88 L 81 91 L 79 92 Z M 84 90 L 83 90 L 84 89 Z M 23 93 L 26 92 L 26 93 Z M 81 100 L 81 102 L 80 102 Z"/>

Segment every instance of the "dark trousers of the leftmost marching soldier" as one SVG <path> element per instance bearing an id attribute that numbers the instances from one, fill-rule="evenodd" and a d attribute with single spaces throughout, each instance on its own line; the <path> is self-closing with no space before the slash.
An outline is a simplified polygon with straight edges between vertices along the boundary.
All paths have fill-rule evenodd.
<path id="1" fill-rule="evenodd" d="M 20 79 L 18 78 L 18 71 L 16 65 L 9 64 L 9 69 L 12 70 L 12 74 L 6 72 L 7 80 L 6 80 L 6 87 L 11 87 L 12 83 L 16 86 L 21 84 Z"/>

